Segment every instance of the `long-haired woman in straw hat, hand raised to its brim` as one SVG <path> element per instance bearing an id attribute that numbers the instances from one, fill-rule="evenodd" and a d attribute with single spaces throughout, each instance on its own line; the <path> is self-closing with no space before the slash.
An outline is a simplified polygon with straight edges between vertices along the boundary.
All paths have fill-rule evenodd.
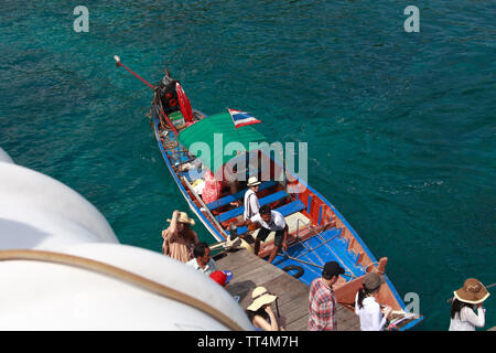
<path id="1" fill-rule="evenodd" d="M 185 212 L 175 210 L 172 220 L 168 222 L 169 227 L 162 231 L 162 252 L 179 261 L 187 263 L 193 258 L 193 246 L 200 242 L 196 232 L 191 228 L 195 221 Z"/>

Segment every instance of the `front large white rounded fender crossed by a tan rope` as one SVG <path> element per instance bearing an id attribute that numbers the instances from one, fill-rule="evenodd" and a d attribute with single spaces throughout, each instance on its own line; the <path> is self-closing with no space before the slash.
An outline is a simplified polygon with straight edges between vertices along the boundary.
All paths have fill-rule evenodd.
<path id="1" fill-rule="evenodd" d="M 208 276 L 151 250 L 88 243 L 61 253 L 98 260 L 188 295 L 252 330 L 241 307 Z M 0 261 L 0 330 L 202 330 L 228 327 L 203 310 L 121 279 L 78 267 Z M 8 303 L 8 304 L 6 304 Z"/>

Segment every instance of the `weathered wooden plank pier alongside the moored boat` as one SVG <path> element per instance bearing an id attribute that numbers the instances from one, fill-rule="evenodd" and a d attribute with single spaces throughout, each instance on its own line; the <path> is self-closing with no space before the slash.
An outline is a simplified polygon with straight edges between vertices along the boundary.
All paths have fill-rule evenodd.
<path id="1" fill-rule="evenodd" d="M 239 304 L 244 309 L 251 303 L 254 288 L 262 286 L 279 296 L 281 324 L 285 330 L 309 330 L 309 286 L 246 249 L 227 252 L 222 254 L 223 257 L 219 255 L 214 257 L 218 269 L 233 272 L 226 290 L 240 297 Z M 276 309 L 273 303 L 272 310 L 277 315 Z M 358 317 L 341 304 L 337 308 L 337 330 L 359 331 Z"/>

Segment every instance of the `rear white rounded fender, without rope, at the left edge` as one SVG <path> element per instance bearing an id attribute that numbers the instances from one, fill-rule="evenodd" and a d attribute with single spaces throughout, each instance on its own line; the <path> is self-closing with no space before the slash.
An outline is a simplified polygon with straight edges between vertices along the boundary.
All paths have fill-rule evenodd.
<path id="1" fill-rule="evenodd" d="M 94 205 L 55 179 L 0 162 L 0 249 L 88 242 L 118 243 Z"/>

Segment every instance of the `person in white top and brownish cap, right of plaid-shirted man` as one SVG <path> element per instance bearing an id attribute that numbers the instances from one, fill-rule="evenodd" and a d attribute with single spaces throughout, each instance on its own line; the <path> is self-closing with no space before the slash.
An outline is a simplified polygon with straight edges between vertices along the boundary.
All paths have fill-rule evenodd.
<path id="1" fill-rule="evenodd" d="M 365 276 L 362 288 L 355 298 L 355 313 L 360 319 L 362 331 L 382 331 L 391 313 L 390 307 L 385 307 L 384 314 L 376 301 L 380 286 L 385 282 L 382 276 L 369 272 Z"/>

